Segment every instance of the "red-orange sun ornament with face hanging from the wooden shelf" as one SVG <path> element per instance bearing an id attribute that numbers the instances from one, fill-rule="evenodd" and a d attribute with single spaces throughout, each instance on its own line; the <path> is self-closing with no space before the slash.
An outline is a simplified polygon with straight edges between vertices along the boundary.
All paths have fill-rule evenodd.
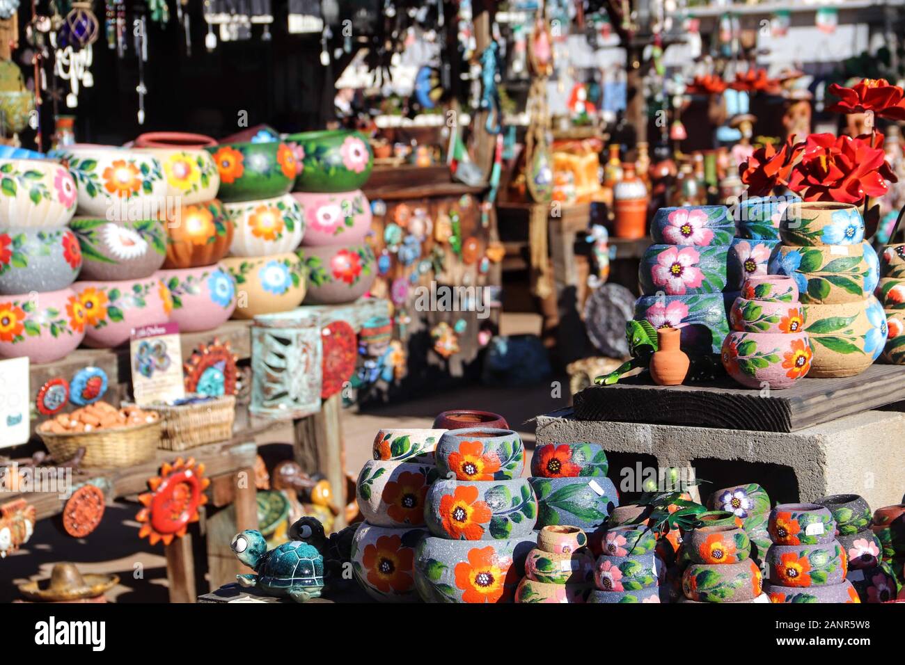
<path id="1" fill-rule="evenodd" d="M 143 506 L 135 516 L 141 523 L 138 537 L 148 536 L 151 545 L 161 540 L 169 545 L 173 538 L 185 536 L 188 525 L 198 521 L 198 508 L 207 503 L 205 489 L 210 484 L 205 465 L 195 463 L 193 457 L 164 462 L 160 475 L 148 479 L 151 491 L 138 495 Z"/>

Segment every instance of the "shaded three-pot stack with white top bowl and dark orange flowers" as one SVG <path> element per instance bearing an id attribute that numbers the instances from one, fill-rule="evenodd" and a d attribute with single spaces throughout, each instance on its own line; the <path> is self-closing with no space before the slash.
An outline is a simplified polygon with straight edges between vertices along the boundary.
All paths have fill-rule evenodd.
<path id="1" fill-rule="evenodd" d="M 436 478 L 433 452 L 444 430 L 386 429 L 374 438 L 356 500 L 365 521 L 352 542 L 358 584 L 382 603 L 417 602 L 414 551 L 427 534 L 424 502 Z"/>

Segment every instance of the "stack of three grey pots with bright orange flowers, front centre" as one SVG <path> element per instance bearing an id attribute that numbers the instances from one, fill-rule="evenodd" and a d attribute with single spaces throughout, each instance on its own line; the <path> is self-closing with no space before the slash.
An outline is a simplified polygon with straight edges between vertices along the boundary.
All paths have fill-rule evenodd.
<path id="1" fill-rule="evenodd" d="M 521 478 L 525 449 L 512 430 L 445 432 L 435 451 L 437 480 L 424 518 L 414 577 L 426 603 L 505 603 L 537 543 L 538 499 Z"/>

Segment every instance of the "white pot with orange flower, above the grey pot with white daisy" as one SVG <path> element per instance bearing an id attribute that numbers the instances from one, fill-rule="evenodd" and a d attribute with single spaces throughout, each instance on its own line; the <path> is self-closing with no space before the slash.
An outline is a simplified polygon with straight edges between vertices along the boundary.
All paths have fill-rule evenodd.
<path id="1" fill-rule="evenodd" d="M 48 153 L 69 168 L 78 189 L 79 214 L 111 222 L 154 219 L 167 209 L 163 166 L 139 150 L 75 144 Z"/>

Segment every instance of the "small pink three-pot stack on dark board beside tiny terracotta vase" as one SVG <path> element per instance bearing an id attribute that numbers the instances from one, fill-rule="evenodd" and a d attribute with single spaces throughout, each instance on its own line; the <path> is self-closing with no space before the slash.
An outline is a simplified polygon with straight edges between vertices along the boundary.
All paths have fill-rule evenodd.
<path id="1" fill-rule="evenodd" d="M 721 359 L 739 384 L 788 388 L 811 368 L 814 352 L 791 277 L 749 278 L 729 311 L 729 325 Z"/>

